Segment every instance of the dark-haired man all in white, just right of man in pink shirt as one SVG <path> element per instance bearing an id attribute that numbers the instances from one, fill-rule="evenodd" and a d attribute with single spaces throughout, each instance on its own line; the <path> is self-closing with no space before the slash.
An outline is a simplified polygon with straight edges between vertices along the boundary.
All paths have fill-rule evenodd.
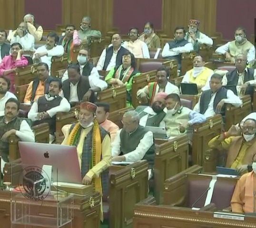
<path id="1" fill-rule="evenodd" d="M 49 32 L 46 45 L 38 47 L 33 55 L 34 63 L 46 63 L 51 68 L 51 57 L 61 57 L 64 55 L 64 47 L 58 45 L 59 36 L 55 32 Z"/>

